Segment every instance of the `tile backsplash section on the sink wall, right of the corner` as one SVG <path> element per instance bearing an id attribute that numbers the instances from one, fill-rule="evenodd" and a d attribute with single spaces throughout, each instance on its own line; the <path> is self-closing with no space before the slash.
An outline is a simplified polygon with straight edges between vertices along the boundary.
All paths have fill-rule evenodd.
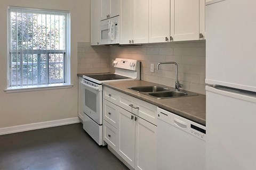
<path id="1" fill-rule="evenodd" d="M 159 71 L 156 66 L 158 62 L 177 62 L 182 88 L 205 94 L 205 41 L 110 47 L 110 56 L 110 62 L 116 57 L 140 60 L 141 80 L 172 87 L 175 87 L 175 66 L 161 65 Z M 151 63 L 155 66 L 154 73 L 150 72 Z M 111 65 L 110 71 L 114 71 Z"/>

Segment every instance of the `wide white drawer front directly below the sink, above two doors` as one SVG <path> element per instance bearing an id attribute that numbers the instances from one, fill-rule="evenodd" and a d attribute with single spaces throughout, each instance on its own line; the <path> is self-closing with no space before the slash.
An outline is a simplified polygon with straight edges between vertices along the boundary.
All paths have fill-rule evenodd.
<path id="1" fill-rule="evenodd" d="M 125 94 L 120 95 L 119 106 L 156 125 L 157 106 Z"/>

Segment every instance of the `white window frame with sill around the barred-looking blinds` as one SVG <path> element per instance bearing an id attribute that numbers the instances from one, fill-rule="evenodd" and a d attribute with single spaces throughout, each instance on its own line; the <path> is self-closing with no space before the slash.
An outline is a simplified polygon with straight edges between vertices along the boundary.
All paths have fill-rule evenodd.
<path id="1" fill-rule="evenodd" d="M 34 86 L 10 86 L 11 84 L 11 73 L 12 73 L 12 57 L 11 57 L 11 49 L 10 49 L 10 45 L 11 45 L 11 10 L 18 10 L 18 11 L 22 11 L 22 10 L 32 10 L 32 11 L 42 11 L 42 12 L 53 12 L 53 13 L 65 13 L 66 15 L 66 21 L 65 21 L 65 52 L 63 52 L 63 70 L 65 71 L 64 77 L 63 79 L 65 80 L 64 83 L 56 83 L 56 84 L 39 84 L 39 85 L 34 85 Z M 71 84 L 70 81 L 70 43 L 71 43 L 71 29 L 70 29 L 70 12 L 69 11 L 60 11 L 60 10 L 45 10 L 45 9 L 39 9 L 39 8 L 27 8 L 27 7 L 16 7 L 16 6 L 9 6 L 8 7 L 8 29 L 7 29 L 7 44 L 8 44 L 8 67 L 7 67 L 7 89 L 5 89 L 6 93 L 9 92 L 23 92 L 23 91 L 38 91 L 38 90 L 47 90 L 47 89 L 62 89 L 62 88 L 71 88 L 73 87 L 73 84 Z M 34 50 L 36 51 L 36 50 Z M 42 50 L 41 54 L 51 54 L 54 53 L 54 50 Z M 15 53 L 17 53 L 18 50 L 15 50 Z M 35 52 L 34 52 L 35 53 Z M 58 53 L 57 53 L 58 54 Z M 18 53 L 17 53 L 18 55 Z M 49 67 L 49 66 L 48 66 Z M 49 74 L 49 72 L 48 72 Z M 48 75 L 49 77 L 49 75 Z M 49 81 L 49 80 L 48 80 Z M 17 82 L 18 83 L 18 82 Z"/>

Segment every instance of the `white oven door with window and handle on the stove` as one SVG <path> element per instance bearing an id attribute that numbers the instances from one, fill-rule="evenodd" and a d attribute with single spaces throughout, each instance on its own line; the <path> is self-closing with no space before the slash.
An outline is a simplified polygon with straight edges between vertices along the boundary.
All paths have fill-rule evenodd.
<path id="1" fill-rule="evenodd" d="M 81 87 L 83 112 L 95 123 L 102 125 L 102 85 L 97 88 L 81 81 Z"/>

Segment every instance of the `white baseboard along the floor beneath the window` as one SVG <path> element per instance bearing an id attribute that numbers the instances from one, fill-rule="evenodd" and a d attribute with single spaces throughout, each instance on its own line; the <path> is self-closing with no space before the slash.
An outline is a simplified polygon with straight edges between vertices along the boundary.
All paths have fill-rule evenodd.
<path id="1" fill-rule="evenodd" d="M 79 122 L 80 122 L 80 120 L 78 117 L 72 117 L 72 118 L 65 118 L 65 119 L 55 120 L 55 121 L 47 121 L 47 122 L 24 124 L 24 125 L 19 125 L 19 126 L 11 126 L 11 127 L 7 127 L 7 128 L 0 128 L 0 135 L 24 132 L 24 131 L 31 131 L 31 130 L 36 130 L 36 129 L 44 129 L 44 128 L 50 128 L 50 127 L 54 127 L 54 126 L 62 126 L 62 125 L 67 125 L 67 124 L 79 123 Z"/>

